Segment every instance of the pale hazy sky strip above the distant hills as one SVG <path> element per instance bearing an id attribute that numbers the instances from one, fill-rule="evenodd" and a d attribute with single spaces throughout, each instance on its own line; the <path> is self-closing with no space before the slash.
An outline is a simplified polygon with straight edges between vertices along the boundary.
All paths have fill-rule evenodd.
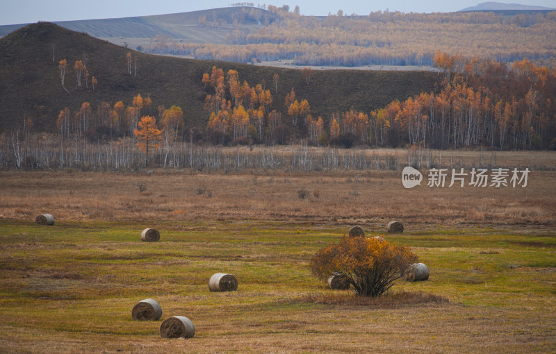
<path id="1" fill-rule="evenodd" d="M 113 17 L 132 17 L 143 15 L 158 15 L 175 12 L 205 10 L 207 8 L 222 8 L 230 3 L 245 0 L 0 0 L 0 25 L 24 24 L 38 21 L 67 21 L 75 19 L 103 19 Z M 333 0 L 279 0 L 270 5 L 282 6 L 288 4 L 293 10 L 300 6 L 303 15 L 328 15 L 343 10 L 347 15 L 368 15 L 371 11 L 386 10 L 401 12 L 452 12 L 476 6 L 487 0 L 390 0 L 390 1 L 333 1 Z M 248 0 L 257 6 L 259 3 Z M 556 8 L 556 0 L 513 0 L 507 3 L 522 3 L 524 5 L 545 6 Z M 267 5 L 269 3 L 266 3 Z"/>

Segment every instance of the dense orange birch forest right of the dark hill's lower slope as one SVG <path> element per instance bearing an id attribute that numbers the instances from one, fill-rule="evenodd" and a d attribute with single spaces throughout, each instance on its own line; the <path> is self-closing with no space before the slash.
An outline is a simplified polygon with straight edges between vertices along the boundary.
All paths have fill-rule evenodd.
<path id="1" fill-rule="evenodd" d="M 345 144 L 434 149 L 556 149 L 556 71 L 530 60 L 512 65 L 437 51 L 440 92 L 423 92 L 366 112 L 332 115 Z M 342 136 L 343 135 L 343 136 Z"/>

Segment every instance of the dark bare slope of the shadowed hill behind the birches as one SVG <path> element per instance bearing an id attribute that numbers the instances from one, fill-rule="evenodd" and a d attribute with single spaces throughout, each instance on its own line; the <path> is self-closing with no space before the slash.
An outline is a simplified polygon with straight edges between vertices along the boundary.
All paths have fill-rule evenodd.
<path id="1" fill-rule="evenodd" d="M 307 99 L 314 117 L 328 121 L 333 112 L 354 108 L 369 112 L 394 99 L 404 100 L 420 92 L 435 90 L 439 76 L 429 72 L 397 71 L 315 71 L 306 85 L 300 69 L 256 67 L 231 62 L 188 60 L 152 56 L 117 47 L 103 40 L 76 33 L 50 23 L 31 24 L 0 39 L 0 133 L 33 119 L 33 130 L 56 130 L 58 113 L 64 107 L 76 111 L 89 102 L 93 114 L 101 102 L 111 106 L 117 101 L 131 106 L 133 96 L 152 99 L 150 115 L 158 106 L 183 109 L 186 128 L 206 127 L 204 111 L 207 94 L 202 75 L 213 66 L 224 73 L 236 69 L 240 81 L 254 86 L 265 83 L 272 88 L 272 107 L 287 117 L 286 93 L 293 87 L 297 98 Z M 131 53 L 131 74 L 126 55 Z M 67 60 L 65 87 L 60 80 L 60 60 Z M 77 85 L 74 64 L 81 60 L 90 77 Z M 279 74 L 278 92 L 272 76 Z M 95 91 L 91 78 L 98 81 Z"/>

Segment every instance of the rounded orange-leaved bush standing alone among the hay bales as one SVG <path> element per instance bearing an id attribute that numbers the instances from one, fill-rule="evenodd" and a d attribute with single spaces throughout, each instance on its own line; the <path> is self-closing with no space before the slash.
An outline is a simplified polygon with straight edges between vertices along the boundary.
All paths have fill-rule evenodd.
<path id="1" fill-rule="evenodd" d="M 344 236 L 338 244 L 318 251 L 309 267 L 318 278 L 325 280 L 339 274 L 356 294 L 376 297 L 387 292 L 417 260 L 409 247 L 383 238 Z"/>

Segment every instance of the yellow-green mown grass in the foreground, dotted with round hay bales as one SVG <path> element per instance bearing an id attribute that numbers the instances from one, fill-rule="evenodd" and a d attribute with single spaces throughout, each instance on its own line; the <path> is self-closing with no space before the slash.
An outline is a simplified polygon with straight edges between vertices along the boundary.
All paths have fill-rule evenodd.
<path id="1" fill-rule="evenodd" d="M 161 242 L 140 242 L 147 226 L 161 231 Z M 1 221 L 2 351 L 556 351 L 556 233 L 470 227 L 386 235 L 411 246 L 430 280 L 400 283 L 384 301 L 361 304 L 307 269 L 347 227 Z M 208 291 L 208 278 L 222 271 L 238 278 L 237 292 Z M 143 298 L 161 304 L 160 321 L 131 321 Z M 193 339 L 161 339 L 158 327 L 173 315 L 193 321 Z"/>

